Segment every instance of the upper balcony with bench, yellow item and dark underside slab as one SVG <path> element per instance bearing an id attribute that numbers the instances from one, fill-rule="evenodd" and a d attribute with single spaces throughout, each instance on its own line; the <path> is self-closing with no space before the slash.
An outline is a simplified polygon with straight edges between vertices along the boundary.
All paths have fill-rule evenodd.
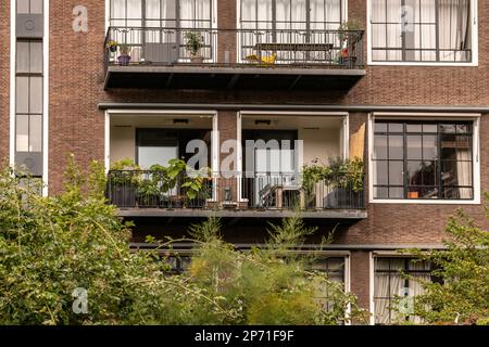
<path id="1" fill-rule="evenodd" d="M 365 75 L 363 34 L 111 27 L 104 87 L 348 91 Z"/>

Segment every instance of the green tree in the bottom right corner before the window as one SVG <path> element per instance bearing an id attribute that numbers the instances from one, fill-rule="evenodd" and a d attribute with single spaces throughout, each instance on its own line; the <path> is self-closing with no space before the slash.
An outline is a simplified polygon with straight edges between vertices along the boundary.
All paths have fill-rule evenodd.
<path id="1" fill-rule="evenodd" d="M 414 298 L 414 314 L 427 324 L 488 324 L 489 233 L 461 209 L 446 232 L 444 249 L 412 252 L 431 264 L 435 280 L 421 282 L 424 293 Z"/>

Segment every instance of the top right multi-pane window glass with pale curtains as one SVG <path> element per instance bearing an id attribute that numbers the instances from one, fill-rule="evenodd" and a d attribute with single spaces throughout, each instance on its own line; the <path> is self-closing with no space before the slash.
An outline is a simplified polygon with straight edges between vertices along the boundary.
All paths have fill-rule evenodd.
<path id="1" fill-rule="evenodd" d="M 373 62 L 473 61 L 471 0 L 371 0 Z"/>

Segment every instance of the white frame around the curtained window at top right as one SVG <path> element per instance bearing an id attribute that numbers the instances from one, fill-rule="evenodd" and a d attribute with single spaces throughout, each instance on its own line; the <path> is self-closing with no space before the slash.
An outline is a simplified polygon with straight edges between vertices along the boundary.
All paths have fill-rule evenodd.
<path id="1" fill-rule="evenodd" d="M 479 65 L 479 37 L 478 37 L 478 8 L 477 0 L 471 0 L 472 12 L 472 62 L 469 63 L 453 63 L 453 62 L 374 62 L 372 60 L 372 0 L 367 0 L 367 64 L 372 66 L 478 66 Z"/>

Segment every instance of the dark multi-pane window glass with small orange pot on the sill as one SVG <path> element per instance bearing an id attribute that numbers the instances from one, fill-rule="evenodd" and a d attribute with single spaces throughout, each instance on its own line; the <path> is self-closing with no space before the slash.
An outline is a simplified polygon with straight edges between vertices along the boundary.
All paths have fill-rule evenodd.
<path id="1" fill-rule="evenodd" d="M 374 198 L 473 200 L 473 123 L 376 120 Z"/>

